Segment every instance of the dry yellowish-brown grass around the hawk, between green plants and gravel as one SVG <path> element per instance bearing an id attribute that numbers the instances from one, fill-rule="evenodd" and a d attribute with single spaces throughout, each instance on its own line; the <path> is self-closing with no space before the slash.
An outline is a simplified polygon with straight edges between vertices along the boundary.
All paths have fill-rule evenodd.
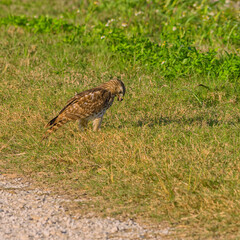
<path id="1" fill-rule="evenodd" d="M 4 76 L 16 72 L 9 68 Z M 198 107 L 174 86 L 125 77 L 125 101 L 109 110 L 101 132 L 80 134 L 72 123 L 40 143 L 44 124 L 72 95 L 69 85 L 80 84 L 39 70 L 19 74 L 1 83 L 2 171 L 14 169 L 75 197 L 87 194 L 92 200 L 81 211 L 168 219 L 180 237 L 183 229 L 222 239 L 238 232 L 238 103 L 221 97 L 217 106 Z M 96 81 L 83 79 L 84 86 Z"/>

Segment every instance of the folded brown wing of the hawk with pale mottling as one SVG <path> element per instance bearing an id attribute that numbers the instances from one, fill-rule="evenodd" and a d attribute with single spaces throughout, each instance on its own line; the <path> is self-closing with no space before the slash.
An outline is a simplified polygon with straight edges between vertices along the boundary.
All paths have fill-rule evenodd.
<path id="1" fill-rule="evenodd" d="M 106 108 L 111 100 L 111 93 L 102 88 L 93 88 L 71 98 L 60 111 L 60 116 L 72 120 L 87 118 Z"/>

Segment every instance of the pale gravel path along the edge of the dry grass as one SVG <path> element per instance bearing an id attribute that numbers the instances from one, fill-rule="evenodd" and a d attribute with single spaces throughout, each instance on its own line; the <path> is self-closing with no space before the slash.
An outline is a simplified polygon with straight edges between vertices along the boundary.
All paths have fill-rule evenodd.
<path id="1" fill-rule="evenodd" d="M 153 230 L 128 220 L 74 217 L 50 192 L 30 189 L 21 178 L 0 175 L 0 239 L 163 239 L 169 229 Z"/>

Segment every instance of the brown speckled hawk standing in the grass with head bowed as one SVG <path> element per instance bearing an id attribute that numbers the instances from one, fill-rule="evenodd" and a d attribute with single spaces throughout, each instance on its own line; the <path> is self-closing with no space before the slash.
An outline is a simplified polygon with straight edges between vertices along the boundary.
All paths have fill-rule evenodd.
<path id="1" fill-rule="evenodd" d="M 104 113 L 113 104 L 114 98 L 122 101 L 125 95 L 124 83 L 115 78 L 98 87 L 80 92 L 72 97 L 66 106 L 53 118 L 45 128 L 48 128 L 43 139 L 69 121 L 79 121 L 79 129 L 84 130 L 89 121 L 93 121 L 93 131 L 98 131 Z"/>

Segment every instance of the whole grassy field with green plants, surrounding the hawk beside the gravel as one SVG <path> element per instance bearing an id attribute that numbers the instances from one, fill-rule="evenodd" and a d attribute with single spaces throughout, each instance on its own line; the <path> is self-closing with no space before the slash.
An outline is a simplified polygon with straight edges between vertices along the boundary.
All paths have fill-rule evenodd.
<path id="1" fill-rule="evenodd" d="M 240 239 L 238 1 L 0 1 L 0 171 L 173 238 Z M 101 131 L 40 141 L 76 92 L 120 76 Z"/>

